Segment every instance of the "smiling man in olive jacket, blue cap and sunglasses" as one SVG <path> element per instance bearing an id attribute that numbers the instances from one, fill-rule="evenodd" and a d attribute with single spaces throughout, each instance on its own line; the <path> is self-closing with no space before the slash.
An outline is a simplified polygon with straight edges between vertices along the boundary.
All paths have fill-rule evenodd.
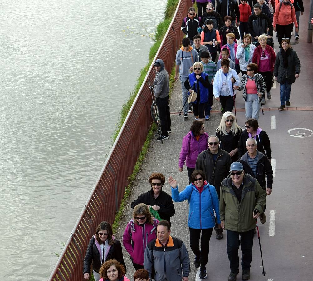
<path id="1" fill-rule="evenodd" d="M 227 230 L 227 253 L 230 263 L 229 281 L 239 273 L 239 235 L 242 251 L 242 280 L 250 278 L 250 263 L 255 221 L 263 212 L 266 192 L 258 181 L 244 173 L 240 162 L 230 165 L 230 175 L 222 181 L 220 191 L 220 220 Z"/>

